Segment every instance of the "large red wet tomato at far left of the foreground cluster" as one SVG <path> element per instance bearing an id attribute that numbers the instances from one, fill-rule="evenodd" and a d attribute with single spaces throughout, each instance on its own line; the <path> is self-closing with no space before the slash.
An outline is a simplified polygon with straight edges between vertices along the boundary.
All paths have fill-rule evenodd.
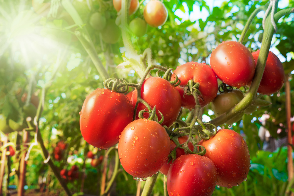
<path id="1" fill-rule="evenodd" d="M 118 143 L 121 131 L 132 121 L 133 104 L 121 93 L 97 88 L 85 99 L 80 114 L 83 138 L 104 149 Z"/>

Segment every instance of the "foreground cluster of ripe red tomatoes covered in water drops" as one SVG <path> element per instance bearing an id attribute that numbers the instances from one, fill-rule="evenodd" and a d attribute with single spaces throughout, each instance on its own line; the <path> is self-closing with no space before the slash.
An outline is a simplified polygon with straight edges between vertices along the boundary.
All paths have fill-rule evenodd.
<path id="1" fill-rule="evenodd" d="M 241 43 L 229 41 L 213 51 L 211 67 L 206 63 L 188 62 L 173 73 L 159 67 L 166 71 L 163 77 L 142 78 L 139 85 L 130 84 L 135 90 L 129 93 L 126 93 L 127 83 L 108 79 L 105 89 L 96 89 L 83 103 L 80 112 L 83 138 L 98 150 L 118 143 L 121 165 L 135 180 L 144 181 L 158 171 L 167 175 L 170 196 L 212 195 L 216 185 L 227 188 L 239 185 L 247 179 L 250 167 L 249 150 L 243 137 L 228 129 L 217 132 L 216 127 L 214 133 L 208 133 L 202 123 L 203 129 L 197 127 L 198 133 L 202 139 L 202 132 L 208 138 L 196 143 L 191 135 L 195 135 L 195 123 L 201 124 L 197 113 L 193 117 L 196 120 L 192 120 L 194 124 L 186 127 L 179 115 L 182 107 L 195 108 L 196 112 L 210 102 L 216 116 L 233 108 L 244 98 L 243 92 L 233 87 L 250 85 L 256 55 L 258 53 L 252 55 Z M 266 64 L 265 70 L 274 73 L 265 72 L 262 81 L 274 83 L 275 90 L 270 91 L 274 93 L 281 88 L 283 80 L 267 77 L 283 72 L 273 53 L 269 54 L 268 61 L 271 63 Z M 223 82 L 220 86 L 217 78 Z M 109 82 L 112 79 L 115 82 Z M 125 87 L 126 90 L 121 91 Z M 260 83 L 260 89 L 264 88 Z M 252 112 L 256 107 L 250 106 L 226 123 L 240 120 L 244 112 Z M 94 155 L 90 151 L 87 156 L 93 158 Z"/>

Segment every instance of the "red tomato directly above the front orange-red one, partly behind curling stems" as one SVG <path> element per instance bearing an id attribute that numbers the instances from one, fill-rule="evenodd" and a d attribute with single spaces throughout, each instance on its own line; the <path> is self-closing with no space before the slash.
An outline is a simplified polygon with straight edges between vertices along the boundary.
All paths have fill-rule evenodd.
<path id="1" fill-rule="evenodd" d="M 156 106 L 156 115 L 159 119 L 161 115 L 158 110 L 163 114 L 164 121 L 162 125 L 171 126 L 180 113 L 181 96 L 176 87 L 163 78 L 147 78 L 141 88 L 141 98 L 145 100 L 152 109 Z M 133 105 L 137 102 L 137 90 L 133 93 L 132 102 Z M 140 110 L 144 110 L 145 108 L 146 106 L 143 103 L 138 104 L 136 119 L 138 119 Z M 143 114 L 145 118 L 148 118 L 148 115 L 148 113 Z"/>

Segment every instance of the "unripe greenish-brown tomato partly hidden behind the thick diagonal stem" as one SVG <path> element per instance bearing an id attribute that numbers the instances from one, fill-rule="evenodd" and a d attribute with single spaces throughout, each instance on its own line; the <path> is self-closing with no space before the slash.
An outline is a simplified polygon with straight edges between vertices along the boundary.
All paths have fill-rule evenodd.
<path id="1" fill-rule="evenodd" d="M 222 115 L 227 112 L 231 108 L 233 108 L 240 100 L 243 99 L 243 93 L 239 90 L 233 90 L 225 93 L 220 93 L 216 96 L 216 98 L 211 102 L 212 110 L 216 117 Z M 237 122 L 242 118 L 244 111 L 235 117 L 228 120 L 227 124 L 232 124 Z"/>

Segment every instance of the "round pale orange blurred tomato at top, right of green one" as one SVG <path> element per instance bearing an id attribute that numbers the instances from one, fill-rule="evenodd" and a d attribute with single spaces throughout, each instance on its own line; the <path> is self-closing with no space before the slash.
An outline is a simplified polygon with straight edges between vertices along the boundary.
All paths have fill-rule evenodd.
<path id="1" fill-rule="evenodd" d="M 144 19 L 152 27 L 163 25 L 168 17 L 166 6 L 158 0 L 149 1 L 144 9 Z"/>

